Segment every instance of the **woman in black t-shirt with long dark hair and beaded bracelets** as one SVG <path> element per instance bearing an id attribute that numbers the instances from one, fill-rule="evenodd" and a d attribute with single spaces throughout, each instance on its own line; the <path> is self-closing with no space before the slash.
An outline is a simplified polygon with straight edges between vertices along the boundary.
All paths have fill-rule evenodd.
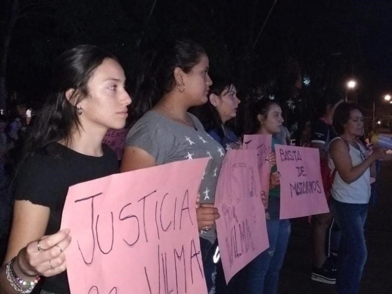
<path id="1" fill-rule="evenodd" d="M 91 45 L 65 51 L 52 88 L 27 139 L 17 170 L 14 218 L 0 292 L 69 293 L 61 230 L 68 187 L 118 171 L 115 154 L 102 145 L 109 128 L 121 129 L 131 103 L 117 59 Z"/>

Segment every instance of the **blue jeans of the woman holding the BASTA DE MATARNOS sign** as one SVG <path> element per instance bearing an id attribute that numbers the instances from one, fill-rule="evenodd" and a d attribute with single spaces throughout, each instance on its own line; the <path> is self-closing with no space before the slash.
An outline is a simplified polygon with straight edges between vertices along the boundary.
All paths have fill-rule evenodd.
<path id="1" fill-rule="evenodd" d="M 275 294 L 278 290 L 279 272 L 286 255 L 290 237 L 290 220 L 279 219 L 279 199 L 270 198 L 268 210 L 271 218 L 267 219 L 269 248 L 248 264 L 249 294 Z"/>

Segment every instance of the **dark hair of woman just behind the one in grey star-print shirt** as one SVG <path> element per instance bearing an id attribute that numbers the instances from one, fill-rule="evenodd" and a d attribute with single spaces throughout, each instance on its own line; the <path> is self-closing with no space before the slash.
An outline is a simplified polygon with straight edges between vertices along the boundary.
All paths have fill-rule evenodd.
<path id="1" fill-rule="evenodd" d="M 225 95 L 226 93 L 230 92 L 235 86 L 232 80 L 228 77 L 213 77 L 213 81 L 214 83 L 210 87 L 208 95 Z M 216 107 L 211 104 L 209 99 L 206 104 L 193 107 L 191 109 L 191 112 L 199 117 L 200 121 L 204 126 L 204 129 L 207 132 L 211 129 L 217 129 L 218 135 L 222 135 L 222 137 L 224 137 L 222 130 L 222 118 L 220 117 L 219 112 L 216 110 Z"/>

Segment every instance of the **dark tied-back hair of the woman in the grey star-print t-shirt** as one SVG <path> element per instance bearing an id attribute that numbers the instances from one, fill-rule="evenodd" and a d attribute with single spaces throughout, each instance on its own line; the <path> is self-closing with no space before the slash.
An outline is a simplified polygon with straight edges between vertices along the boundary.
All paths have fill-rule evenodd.
<path id="1" fill-rule="evenodd" d="M 141 59 L 136 79 L 135 99 L 131 119 L 139 119 L 161 97 L 175 86 L 174 69 L 189 72 L 206 55 L 204 48 L 191 40 L 175 40 L 162 44 L 157 51 L 146 53 Z"/>

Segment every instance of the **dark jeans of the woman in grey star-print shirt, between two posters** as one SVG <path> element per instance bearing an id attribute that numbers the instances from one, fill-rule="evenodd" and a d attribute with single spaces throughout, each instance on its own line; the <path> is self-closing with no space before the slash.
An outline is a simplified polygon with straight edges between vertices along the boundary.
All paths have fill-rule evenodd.
<path id="1" fill-rule="evenodd" d="M 208 294 L 215 293 L 216 263 L 213 256 L 216 251 L 217 241 L 212 244 L 204 238 L 200 239 L 200 250 L 202 252 L 204 277 L 206 279 Z"/>

